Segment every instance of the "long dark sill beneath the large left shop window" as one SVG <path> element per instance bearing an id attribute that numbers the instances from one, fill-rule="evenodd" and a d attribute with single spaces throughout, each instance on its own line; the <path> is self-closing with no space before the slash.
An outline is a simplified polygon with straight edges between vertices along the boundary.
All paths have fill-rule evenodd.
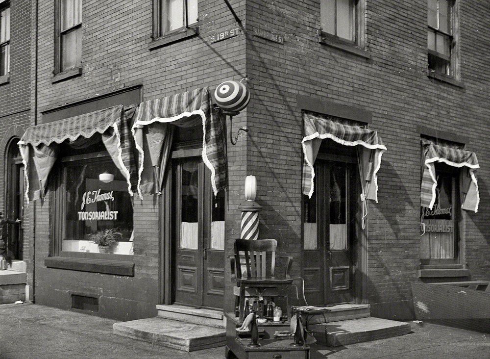
<path id="1" fill-rule="evenodd" d="M 133 261 L 75 257 L 47 257 L 44 260 L 44 265 L 48 268 L 134 277 Z"/>

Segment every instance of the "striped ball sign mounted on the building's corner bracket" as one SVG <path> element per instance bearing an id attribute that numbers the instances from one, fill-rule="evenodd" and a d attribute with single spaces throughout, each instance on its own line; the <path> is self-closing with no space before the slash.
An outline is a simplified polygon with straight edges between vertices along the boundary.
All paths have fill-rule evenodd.
<path id="1" fill-rule="evenodd" d="M 242 82 L 224 81 L 215 90 L 216 103 L 225 112 L 240 112 L 250 101 L 250 92 Z"/>

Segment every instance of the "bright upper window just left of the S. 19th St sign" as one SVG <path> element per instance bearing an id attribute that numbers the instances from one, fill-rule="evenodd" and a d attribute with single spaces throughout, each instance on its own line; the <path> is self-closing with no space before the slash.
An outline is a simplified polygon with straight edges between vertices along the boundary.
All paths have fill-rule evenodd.
<path id="1" fill-rule="evenodd" d="M 156 0 L 157 37 L 197 23 L 198 0 Z"/>

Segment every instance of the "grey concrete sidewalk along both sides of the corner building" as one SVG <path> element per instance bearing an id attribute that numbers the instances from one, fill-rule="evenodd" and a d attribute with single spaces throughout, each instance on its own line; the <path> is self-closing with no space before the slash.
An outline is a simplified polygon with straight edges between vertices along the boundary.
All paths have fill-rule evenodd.
<path id="1" fill-rule="evenodd" d="M 0 305 L 0 358 L 224 358 L 224 348 L 186 353 L 112 333 L 116 320 L 33 304 Z M 490 334 L 411 322 L 412 333 L 341 347 L 318 358 L 490 358 Z"/>

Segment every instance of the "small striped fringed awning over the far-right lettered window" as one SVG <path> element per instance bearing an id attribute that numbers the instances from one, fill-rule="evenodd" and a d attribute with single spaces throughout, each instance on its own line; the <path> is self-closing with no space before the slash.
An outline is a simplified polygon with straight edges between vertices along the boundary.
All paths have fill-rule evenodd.
<path id="1" fill-rule="evenodd" d="M 420 204 L 422 207 L 432 209 L 436 201 L 437 177 L 434 164 L 443 162 L 449 166 L 461 168 L 461 188 L 464 198 L 461 208 L 478 212 L 480 194 L 475 172 L 480 168 L 474 152 L 436 145 L 422 139 L 424 161 L 422 168 L 422 186 L 420 190 Z"/>

